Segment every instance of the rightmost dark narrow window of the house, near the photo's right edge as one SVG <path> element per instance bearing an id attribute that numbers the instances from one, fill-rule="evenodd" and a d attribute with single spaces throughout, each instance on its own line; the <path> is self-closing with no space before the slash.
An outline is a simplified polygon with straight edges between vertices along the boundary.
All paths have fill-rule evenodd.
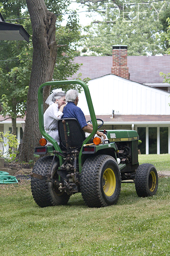
<path id="1" fill-rule="evenodd" d="M 168 153 L 168 127 L 160 127 L 160 154 Z"/>

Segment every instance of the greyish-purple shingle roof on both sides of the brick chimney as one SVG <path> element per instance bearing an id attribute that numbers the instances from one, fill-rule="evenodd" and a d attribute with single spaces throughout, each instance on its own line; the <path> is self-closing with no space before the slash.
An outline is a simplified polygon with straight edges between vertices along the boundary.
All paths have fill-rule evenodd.
<path id="1" fill-rule="evenodd" d="M 83 64 L 78 73 L 82 73 L 81 79 L 89 77 L 95 79 L 111 74 L 112 56 L 79 56 L 74 62 Z M 127 56 L 130 80 L 141 84 L 162 83 L 160 72 L 170 73 L 170 55 L 164 56 Z M 77 74 L 72 77 L 75 79 Z"/>

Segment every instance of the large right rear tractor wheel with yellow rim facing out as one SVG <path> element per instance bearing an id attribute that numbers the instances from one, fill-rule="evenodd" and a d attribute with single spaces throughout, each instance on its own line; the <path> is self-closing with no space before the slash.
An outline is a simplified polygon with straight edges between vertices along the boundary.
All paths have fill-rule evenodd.
<path id="1" fill-rule="evenodd" d="M 80 175 L 80 189 L 88 207 L 116 204 L 121 190 L 121 175 L 116 160 L 104 154 L 86 159 Z"/>

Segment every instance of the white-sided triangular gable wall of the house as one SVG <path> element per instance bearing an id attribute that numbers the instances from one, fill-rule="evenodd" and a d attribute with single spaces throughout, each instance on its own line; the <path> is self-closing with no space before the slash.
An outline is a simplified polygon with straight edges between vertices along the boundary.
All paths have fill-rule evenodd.
<path id="1" fill-rule="evenodd" d="M 88 82 L 96 115 L 119 114 L 170 115 L 170 93 L 115 75 L 102 76 Z M 84 92 L 78 106 L 89 115 Z"/>

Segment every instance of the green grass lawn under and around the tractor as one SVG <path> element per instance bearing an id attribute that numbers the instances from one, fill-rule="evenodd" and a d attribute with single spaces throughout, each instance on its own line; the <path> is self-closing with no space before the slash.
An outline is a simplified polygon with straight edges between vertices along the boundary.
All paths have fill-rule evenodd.
<path id="1" fill-rule="evenodd" d="M 140 155 L 139 163 L 170 170 L 170 156 Z M 169 162 L 170 163 L 170 162 Z M 68 205 L 40 208 L 30 181 L 0 185 L 0 256 L 170 256 L 170 177 L 151 198 L 122 184 L 119 201 L 88 208 L 81 194 Z"/>

